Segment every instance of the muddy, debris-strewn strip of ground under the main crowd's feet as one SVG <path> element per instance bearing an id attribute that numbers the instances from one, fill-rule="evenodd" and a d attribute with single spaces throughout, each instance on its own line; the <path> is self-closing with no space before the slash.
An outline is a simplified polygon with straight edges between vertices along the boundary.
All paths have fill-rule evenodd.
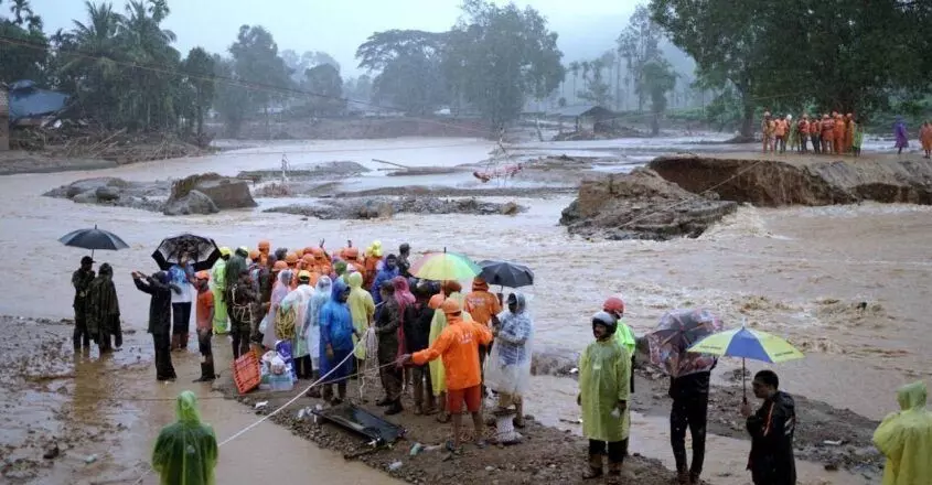
<path id="1" fill-rule="evenodd" d="M 384 408 L 377 408 L 374 402 L 381 398 L 381 385 L 377 377 L 364 380 L 365 387 L 361 398 L 358 381 L 351 380 L 347 391 L 349 399 L 377 416 L 382 416 Z M 257 402 L 268 401 L 257 414 L 270 412 L 290 400 L 297 392 L 307 388 L 310 381 L 300 381 L 293 391 L 270 392 L 254 391 L 246 396 L 238 396 L 232 379 L 221 379 L 215 389 L 221 390 L 231 399 L 237 399 L 245 406 L 255 407 Z M 299 389 L 300 388 L 300 389 Z M 452 455 L 443 450 L 443 443 L 450 438 L 450 425 L 440 424 L 436 416 L 414 416 L 414 403 L 409 392 L 403 396 L 406 410 L 386 420 L 401 425 L 407 430 L 404 439 L 394 446 L 379 449 L 363 454 L 358 460 L 368 466 L 386 471 L 394 477 L 407 483 L 460 485 L 463 483 L 532 484 L 532 483 L 626 483 L 640 485 L 669 485 L 673 473 L 658 461 L 633 455 L 624 465 L 625 479 L 622 482 L 594 481 L 583 482 L 582 473 L 587 468 L 587 442 L 581 436 L 549 428 L 535 421 L 533 417 L 526 420 L 526 428 L 519 430 L 525 442 L 511 446 L 489 445 L 479 449 L 470 441 L 473 440 L 473 428 L 469 416 L 463 417 L 464 441 L 463 452 Z M 287 409 L 271 418 L 276 423 L 286 427 L 298 436 L 317 443 L 319 446 L 335 450 L 344 454 L 356 454 L 372 450 L 365 440 L 342 428 L 330 423 L 314 423 L 313 418 L 299 419 L 301 410 L 318 405 L 324 405 L 320 399 L 302 397 Z M 495 429 L 486 428 L 486 439 L 494 436 Z M 416 456 L 410 455 L 411 446 L 421 443 L 426 450 Z M 389 466 L 400 462 L 400 467 L 390 470 Z M 396 465 L 397 466 L 397 465 Z"/>

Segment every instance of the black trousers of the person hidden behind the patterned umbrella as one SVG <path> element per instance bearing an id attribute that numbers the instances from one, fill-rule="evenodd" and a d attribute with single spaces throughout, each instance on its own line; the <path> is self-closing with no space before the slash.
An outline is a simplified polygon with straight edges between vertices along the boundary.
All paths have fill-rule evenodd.
<path id="1" fill-rule="evenodd" d="M 708 419 L 708 395 L 690 399 L 676 399 L 669 411 L 669 444 L 676 460 L 676 471 L 685 472 L 686 466 L 686 428 L 693 436 L 693 463 L 689 474 L 699 476 L 706 459 L 706 420 Z"/>

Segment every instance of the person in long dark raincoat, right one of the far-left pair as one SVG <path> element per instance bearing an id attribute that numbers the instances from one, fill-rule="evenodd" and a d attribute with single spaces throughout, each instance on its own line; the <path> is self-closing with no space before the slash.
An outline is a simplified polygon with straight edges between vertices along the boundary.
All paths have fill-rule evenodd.
<path id="1" fill-rule="evenodd" d="M 100 265 L 100 272 L 87 288 L 87 333 L 97 343 L 100 354 L 122 346 L 120 302 L 114 285 L 114 269 L 106 262 Z"/>

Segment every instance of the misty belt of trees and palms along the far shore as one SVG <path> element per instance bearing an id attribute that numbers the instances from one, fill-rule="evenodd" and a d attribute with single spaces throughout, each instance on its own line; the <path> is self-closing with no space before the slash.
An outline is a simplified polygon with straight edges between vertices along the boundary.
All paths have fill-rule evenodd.
<path id="1" fill-rule="evenodd" d="M 0 82 L 68 93 L 82 117 L 110 129 L 202 133 L 216 114 L 227 136 L 270 112 L 444 109 L 497 130 L 526 110 L 592 104 L 750 137 L 764 109 L 867 119 L 928 110 L 932 2 L 810 3 L 651 0 L 602 55 L 568 61 L 535 9 L 467 0 L 447 31 L 373 33 L 356 52 L 367 74 L 344 78 L 328 53 L 280 51 L 261 25 L 231 33 L 224 53 L 183 55 L 163 28 L 167 0 L 87 2 L 85 19 L 51 34 L 28 0 L 0 0 Z M 674 67 L 669 44 L 695 72 Z"/>

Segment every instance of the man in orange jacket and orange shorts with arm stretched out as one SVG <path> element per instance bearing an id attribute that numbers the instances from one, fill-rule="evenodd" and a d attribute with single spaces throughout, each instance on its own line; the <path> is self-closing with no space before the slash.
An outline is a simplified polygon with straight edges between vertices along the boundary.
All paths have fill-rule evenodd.
<path id="1" fill-rule="evenodd" d="M 453 439 L 447 442 L 447 449 L 451 452 L 460 451 L 460 427 L 462 425 L 462 413 L 456 412 L 462 409 L 465 402 L 467 410 L 472 414 L 472 423 L 475 427 L 475 445 L 485 448 L 485 423 L 482 420 L 482 390 L 480 382 L 482 377 L 479 368 L 479 346 L 492 342 L 492 332 L 486 325 L 476 322 L 467 322 L 462 319 L 462 309 L 456 300 L 447 299 L 440 305 L 440 311 L 447 315 L 447 327 L 433 344 L 420 352 L 405 354 L 400 357 L 404 364 L 426 365 L 439 357 L 443 359 L 443 369 L 447 378 L 447 409 L 452 411 Z"/>

